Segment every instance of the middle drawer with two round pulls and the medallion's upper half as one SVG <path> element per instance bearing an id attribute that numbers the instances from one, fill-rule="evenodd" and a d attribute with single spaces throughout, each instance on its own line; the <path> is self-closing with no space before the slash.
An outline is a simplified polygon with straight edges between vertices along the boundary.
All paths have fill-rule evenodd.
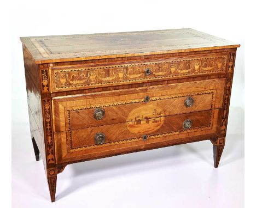
<path id="1" fill-rule="evenodd" d="M 54 97 L 54 131 L 120 124 L 222 107 L 225 78 Z M 145 97 L 149 100 L 145 101 Z M 192 100 L 188 106 L 188 100 Z M 191 102 L 190 102 L 191 104 Z M 100 111 L 100 119 L 95 115 Z"/>

